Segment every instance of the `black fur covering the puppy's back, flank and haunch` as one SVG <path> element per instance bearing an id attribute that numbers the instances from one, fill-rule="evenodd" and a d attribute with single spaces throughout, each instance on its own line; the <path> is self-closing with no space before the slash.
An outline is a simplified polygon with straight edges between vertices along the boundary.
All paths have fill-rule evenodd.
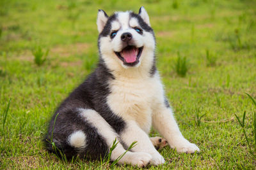
<path id="1" fill-rule="evenodd" d="M 117 133 L 122 132 L 125 128 L 124 120 L 112 113 L 108 104 L 106 104 L 106 97 L 109 94 L 108 81 L 113 79 L 113 75 L 100 59 L 97 69 L 61 103 L 53 115 L 44 140 L 50 152 L 55 152 L 51 144 L 51 142 L 54 142 L 58 148 L 56 153 L 60 155 L 58 152 L 60 150 L 65 153 L 68 159 L 72 156 L 76 157 L 76 155 L 97 159 L 100 156 L 103 158 L 108 153 L 108 146 L 104 138 L 100 136 L 92 124 L 79 116 L 77 108 L 97 111 Z M 55 117 L 56 122 L 54 124 Z M 52 132 L 53 126 L 54 130 Z M 67 143 L 68 136 L 79 130 L 86 135 L 87 146 L 82 152 L 78 152 Z"/>

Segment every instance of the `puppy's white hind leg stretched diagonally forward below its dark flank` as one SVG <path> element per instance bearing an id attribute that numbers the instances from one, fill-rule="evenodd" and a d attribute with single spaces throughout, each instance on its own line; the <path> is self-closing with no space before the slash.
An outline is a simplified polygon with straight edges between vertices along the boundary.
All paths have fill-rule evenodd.
<path id="1" fill-rule="evenodd" d="M 124 147 L 118 141 L 118 134 L 95 110 L 80 109 L 81 116 L 86 122 L 90 122 L 97 132 L 102 136 L 109 148 L 113 146 L 113 141 L 118 142 L 116 148 L 111 153 L 111 160 L 116 160 L 125 152 Z M 118 164 L 132 164 L 132 166 L 145 167 L 152 159 L 151 155 L 145 152 L 127 152 L 124 157 L 118 161 Z"/>

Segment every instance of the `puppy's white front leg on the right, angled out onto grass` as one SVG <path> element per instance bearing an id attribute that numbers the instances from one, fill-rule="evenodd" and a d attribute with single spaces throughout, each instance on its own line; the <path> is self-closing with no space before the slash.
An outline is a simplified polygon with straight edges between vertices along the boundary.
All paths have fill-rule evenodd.
<path id="1" fill-rule="evenodd" d="M 194 153 L 200 152 L 199 148 L 185 139 L 173 117 L 173 111 L 166 104 L 161 104 L 154 110 L 152 116 L 153 127 L 167 139 L 172 148 L 176 148 L 177 152 Z"/>

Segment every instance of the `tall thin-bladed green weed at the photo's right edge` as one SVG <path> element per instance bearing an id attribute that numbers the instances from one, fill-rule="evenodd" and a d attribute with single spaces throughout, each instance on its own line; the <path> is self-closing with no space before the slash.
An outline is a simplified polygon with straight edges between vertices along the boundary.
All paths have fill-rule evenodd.
<path id="1" fill-rule="evenodd" d="M 252 103 L 255 105 L 256 107 L 256 101 L 255 99 L 253 99 L 252 96 L 250 96 L 250 94 L 248 93 L 245 93 L 251 100 L 252 100 Z M 243 134 L 245 136 L 245 139 L 246 139 L 246 143 L 248 145 L 248 148 L 249 148 L 249 153 L 256 158 L 256 110 L 254 111 L 253 113 L 253 133 L 252 133 L 252 136 L 253 136 L 253 141 L 254 141 L 254 145 L 250 145 L 250 140 L 248 139 L 248 136 L 246 135 L 246 127 L 245 127 L 245 117 L 246 117 L 246 111 L 244 111 L 244 114 L 243 114 L 243 118 L 242 120 L 240 120 L 240 118 L 235 114 L 236 118 L 237 118 L 237 121 L 239 123 L 239 125 L 241 125 L 242 129 L 243 129 Z M 254 147 L 254 149 L 253 149 Z"/>

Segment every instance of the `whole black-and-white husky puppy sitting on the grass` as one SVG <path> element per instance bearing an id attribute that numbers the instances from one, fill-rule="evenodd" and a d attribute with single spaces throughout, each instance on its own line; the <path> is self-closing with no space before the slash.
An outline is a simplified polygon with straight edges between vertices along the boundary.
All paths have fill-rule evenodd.
<path id="1" fill-rule="evenodd" d="M 180 133 L 164 96 L 156 69 L 156 41 L 145 8 L 138 14 L 118 11 L 110 17 L 99 10 L 97 25 L 98 67 L 56 110 L 45 138 L 47 149 L 67 158 L 99 159 L 116 139 L 111 154 L 115 160 L 137 141 L 119 164 L 164 164 L 154 147 L 159 138 L 148 137 L 153 126 L 177 152 L 199 152 Z"/>

